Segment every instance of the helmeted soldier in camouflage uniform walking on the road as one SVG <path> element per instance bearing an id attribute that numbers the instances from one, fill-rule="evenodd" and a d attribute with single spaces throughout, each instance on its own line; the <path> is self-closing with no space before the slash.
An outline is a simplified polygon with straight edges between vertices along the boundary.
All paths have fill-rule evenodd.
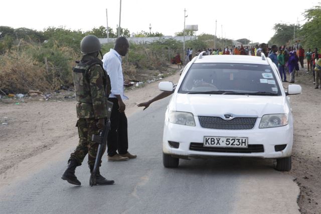
<path id="1" fill-rule="evenodd" d="M 77 127 L 79 144 L 70 155 L 68 168 L 62 179 L 71 184 L 81 185 L 75 175 L 75 169 L 80 166 L 88 153 L 90 172 L 93 170 L 97 155 L 98 143 L 92 141 L 92 135 L 99 135 L 99 130 L 105 125 L 105 120 L 110 117 L 107 111 L 107 97 L 110 93 L 110 80 L 102 67 L 102 61 L 97 58 L 101 44 L 96 36 L 84 37 L 80 44 L 84 54 L 80 62 L 73 68 L 73 79 L 77 96 Z M 107 88 L 108 87 L 108 88 Z M 103 149 L 103 153 L 106 146 Z M 100 161 L 101 165 L 101 161 Z M 99 166 L 100 166 L 99 165 Z M 113 184 L 97 170 L 96 183 L 98 185 Z"/>

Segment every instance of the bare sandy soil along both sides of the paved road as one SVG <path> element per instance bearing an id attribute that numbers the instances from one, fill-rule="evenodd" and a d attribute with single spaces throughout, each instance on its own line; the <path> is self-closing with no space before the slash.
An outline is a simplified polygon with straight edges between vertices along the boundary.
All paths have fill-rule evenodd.
<path id="1" fill-rule="evenodd" d="M 178 79 L 178 72 L 163 78 L 175 83 Z M 302 86 L 303 92 L 290 96 L 295 126 L 294 144 L 292 170 L 285 173 L 294 176 L 300 186 L 298 205 L 302 213 L 320 213 L 321 210 L 321 90 L 314 89 L 311 79 L 311 74 L 306 73 L 305 69 L 299 71 L 296 83 Z M 157 84 L 155 81 L 140 85 L 142 88 L 127 90 L 127 116 L 142 111 L 136 106 L 137 103 L 159 93 Z M 284 83 L 284 87 L 287 85 Z M 31 167 L 28 166 L 29 159 L 57 147 L 66 149 L 67 139 L 77 136 L 76 100 L 73 95 L 73 92 L 61 91 L 49 100 L 39 96 L 24 102 L 0 101 L 0 187 L 9 184 L 14 177 L 23 177 L 25 171 L 12 168 L 20 163 Z"/>

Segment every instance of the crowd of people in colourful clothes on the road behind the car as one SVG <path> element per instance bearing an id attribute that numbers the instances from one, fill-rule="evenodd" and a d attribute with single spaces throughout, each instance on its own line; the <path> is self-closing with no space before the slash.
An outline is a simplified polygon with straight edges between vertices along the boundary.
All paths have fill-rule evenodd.
<path id="1" fill-rule="evenodd" d="M 285 45 L 277 47 L 272 45 L 268 47 L 267 44 L 262 43 L 256 46 L 233 46 L 226 48 L 204 48 L 198 49 L 195 56 L 198 56 L 203 52 L 203 55 L 250 55 L 250 56 L 261 56 L 264 53 L 265 56 L 271 58 L 272 62 L 277 66 L 281 79 L 283 82 L 287 82 L 286 73 L 290 74 L 290 83 L 295 81 L 295 73 L 299 70 L 299 65 L 304 68 L 304 59 L 307 63 L 307 72 L 311 72 L 313 75 L 313 84 L 315 88 L 321 88 L 321 54 L 318 54 L 317 48 L 311 52 L 308 49 L 307 52 L 304 51 L 302 46 L 294 45 L 292 47 L 286 47 Z M 190 62 L 193 57 L 193 49 L 188 48 L 185 53 L 185 64 Z M 178 68 L 182 68 L 183 61 L 181 59 L 180 53 L 177 53 L 172 59 L 173 64 L 177 64 Z M 320 82 L 320 83 L 319 83 Z"/>

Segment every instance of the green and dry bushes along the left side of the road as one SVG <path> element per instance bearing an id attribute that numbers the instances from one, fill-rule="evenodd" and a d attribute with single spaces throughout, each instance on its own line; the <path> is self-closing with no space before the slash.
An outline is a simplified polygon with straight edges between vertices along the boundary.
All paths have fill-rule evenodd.
<path id="1" fill-rule="evenodd" d="M 89 34 L 106 37 L 106 28 L 101 26 L 88 32 L 49 27 L 44 31 L 27 28 L 14 29 L 0 26 L 0 94 L 26 93 L 30 89 L 54 91 L 61 85 L 72 86 L 72 67 L 81 58 L 80 41 Z M 112 29 L 109 36 L 116 37 Z M 121 36 L 128 37 L 129 31 L 121 29 Z M 162 33 L 141 31 L 137 37 L 163 36 Z M 212 40 L 208 38 L 211 37 Z M 187 41 L 186 47 L 204 49 L 211 47 L 214 36 L 201 35 L 199 39 Z M 218 40 L 219 41 L 219 40 Z M 221 44 L 223 44 L 221 42 Z M 113 44 L 105 44 L 106 53 Z M 123 59 L 125 79 L 148 76 L 151 70 L 166 71 L 170 60 L 180 52 L 183 43 L 174 39 L 160 39 L 148 44 L 131 44 Z M 147 73 L 146 73 L 147 72 Z M 155 75 L 154 72 L 150 76 Z"/>

